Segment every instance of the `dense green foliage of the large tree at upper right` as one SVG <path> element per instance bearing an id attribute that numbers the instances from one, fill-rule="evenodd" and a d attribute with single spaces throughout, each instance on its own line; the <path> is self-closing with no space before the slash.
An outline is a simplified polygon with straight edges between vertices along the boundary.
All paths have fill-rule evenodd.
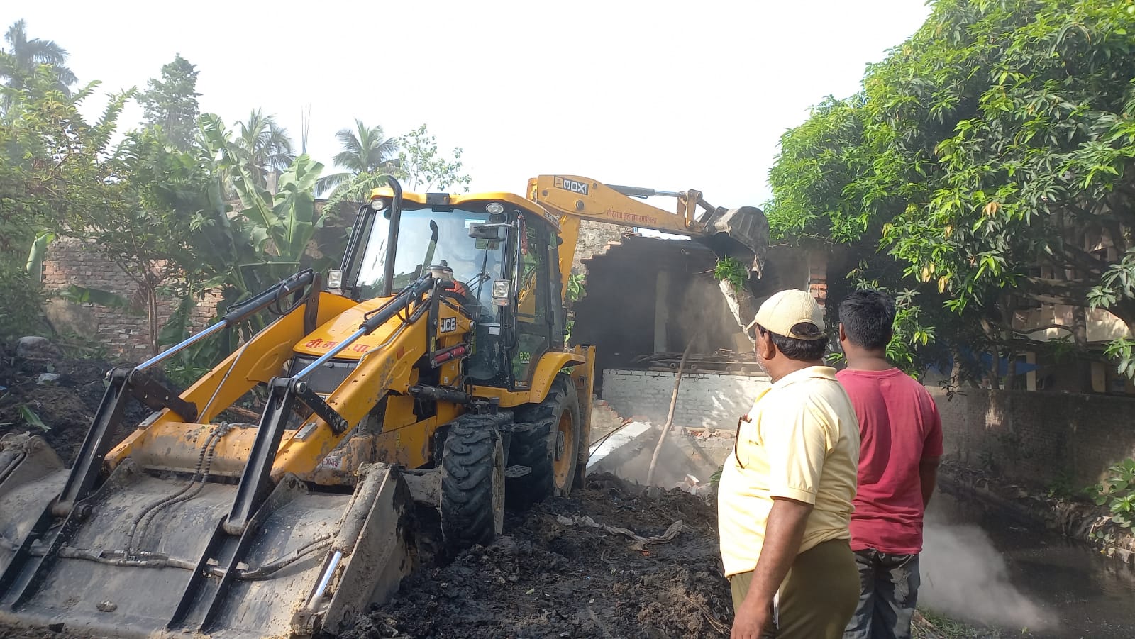
<path id="1" fill-rule="evenodd" d="M 967 327 L 1011 345 L 1019 297 L 1135 326 L 1132 7 L 940 0 L 858 94 L 782 137 L 774 233 L 898 268 L 933 316 L 919 321 L 957 346 Z M 1123 258 L 1085 250 L 1098 243 Z M 938 323 L 935 296 L 957 321 Z"/>

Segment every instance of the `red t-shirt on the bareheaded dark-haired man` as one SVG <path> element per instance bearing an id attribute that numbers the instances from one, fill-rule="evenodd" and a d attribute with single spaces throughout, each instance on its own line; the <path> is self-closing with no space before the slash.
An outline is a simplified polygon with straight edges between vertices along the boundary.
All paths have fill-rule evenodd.
<path id="1" fill-rule="evenodd" d="M 899 369 L 844 369 L 836 379 L 859 418 L 859 488 L 851 549 L 910 555 L 922 550 L 918 465 L 942 455 L 942 419 L 922 384 Z"/>

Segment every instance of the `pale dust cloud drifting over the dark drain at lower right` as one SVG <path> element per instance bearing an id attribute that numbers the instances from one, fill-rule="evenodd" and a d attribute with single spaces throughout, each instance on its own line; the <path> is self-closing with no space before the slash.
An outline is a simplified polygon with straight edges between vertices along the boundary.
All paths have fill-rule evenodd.
<path id="1" fill-rule="evenodd" d="M 942 515 L 928 513 L 919 562 L 919 606 L 1003 628 L 1045 630 L 1057 625 L 1056 615 L 1010 582 L 1004 560 L 976 526 L 949 524 Z"/>

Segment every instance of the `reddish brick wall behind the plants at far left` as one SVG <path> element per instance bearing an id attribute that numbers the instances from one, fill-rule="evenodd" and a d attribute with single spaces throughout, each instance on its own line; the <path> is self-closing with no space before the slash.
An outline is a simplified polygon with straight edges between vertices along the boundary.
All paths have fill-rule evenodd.
<path id="1" fill-rule="evenodd" d="M 145 301 L 134 280 L 82 241 L 65 238 L 52 242 L 43 262 L 44 289 L 56 292 L 73 284 L 121 295 L 134 303 L 133 312 L 56 300 L 48 305 L 47 313 L 57 330 L 98 339 L 114 354 L 131 361 L 141 361 L 150 355 Z M 208 326 L 216 312 L 217 300 L 217 296 L 207 295 L 197 303 L 193 311 L 194 329 Z M 159 301 L 159 327 L 169 318 L 176 303 L 174 299 Z"/>

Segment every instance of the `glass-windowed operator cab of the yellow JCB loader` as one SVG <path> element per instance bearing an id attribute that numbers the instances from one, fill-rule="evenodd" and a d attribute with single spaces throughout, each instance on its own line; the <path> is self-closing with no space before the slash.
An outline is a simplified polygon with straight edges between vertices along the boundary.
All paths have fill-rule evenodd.
<path id="1" fill-rule="evenodd" d="M 389 188 L 376 188 L 359 210 L 340 289 L 362 302 L 452 271 L 452 297 L 474 322 L 466 380 L 527 389 L 540 356 L 564 347 L 558 243 L 554 218 L 513 194 L 406 194 L 395 203 Z"/>

